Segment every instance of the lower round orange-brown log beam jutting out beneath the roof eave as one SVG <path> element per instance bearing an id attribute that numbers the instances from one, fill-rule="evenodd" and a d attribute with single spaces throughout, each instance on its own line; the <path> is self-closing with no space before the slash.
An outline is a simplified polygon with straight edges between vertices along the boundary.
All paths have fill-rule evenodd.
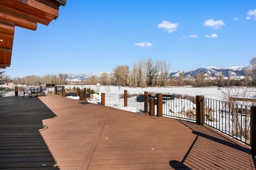
<path id="1" fill-rule="evenodd" d="M 0 20 L 8 21 L 14 23 L 18 27 L 23 27 L 26 29 L 36 30 L 37 21 L 25 16 L 20 16 L 12 12 L 0 9 Z"/>

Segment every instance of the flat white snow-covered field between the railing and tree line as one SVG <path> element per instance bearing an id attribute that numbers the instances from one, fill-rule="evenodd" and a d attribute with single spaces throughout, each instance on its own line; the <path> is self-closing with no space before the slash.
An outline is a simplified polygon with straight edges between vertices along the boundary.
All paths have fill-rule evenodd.
<path id="1" fill-rule="evenodd" d="M 73 88 L 74 86 L 65 86 L 65 88 Z M 243 96 L 255 96 L 256 89 L 248 87 L 232 87 L 232 88 L 219 88 L 216 86 L 194 88 L 191 86 L 184 87 L 149 87 L 149 88 L 129 88 L 118 86 L 75 86 L 79 88 L 91 88 L 97 91 L 99 94 L 124 94 L 124 90 L 127 90 L 128 94 L 144 94 L 144 92 L 150 93 L 162 93 L 162 94 L 181 94 L 182 96 L 197 96 L 201 95 L 205 98 L 214 100 L 224 100 L 224 93 L 230 92 L 230 95 L 243 95 Z"/>

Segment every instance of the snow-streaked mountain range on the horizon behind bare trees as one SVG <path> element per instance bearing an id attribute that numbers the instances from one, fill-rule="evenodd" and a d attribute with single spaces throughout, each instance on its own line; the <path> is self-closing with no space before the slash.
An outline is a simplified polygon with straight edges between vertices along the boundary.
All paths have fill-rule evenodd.
<path id="1" fill-rule="evenodd" d="M 206 78 L 215 78 L 216 75 L 220 73 L 225 77 L 228 77 L 230 73 L 230 78 L 244 78 L 244 72 L 251 68 L 251 65 L 248 66 L 234 66 L 234 67 L 206 67 L 206 68 L 197 68 L 195 70 L 190 71 L 173 71 L 169 73 L 169 78 L 178 78 L 180 73 L 184 74 L 184 78 L 195 78 L 196 74 L 203 72 Z M 72 77 L 72 81 L 81 81 L 86 80 L 88 77 L 94 75 L 98 78 L 102 75 L 103 72 L 100 73 L 89 73 L 89 74 L 69 74 L 69 77 Z M 113 74 L 108 73 L 110 76 Z"/>

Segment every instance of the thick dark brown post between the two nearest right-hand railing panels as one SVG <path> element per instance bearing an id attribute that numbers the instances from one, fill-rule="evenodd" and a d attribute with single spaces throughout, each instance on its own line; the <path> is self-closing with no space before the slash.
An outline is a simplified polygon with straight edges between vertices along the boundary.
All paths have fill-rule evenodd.
<path id="1" fill-rule="evenodd" d="M 203 124 L 204 117 L 204 96 L 196 96 L 196 124 Z"/>

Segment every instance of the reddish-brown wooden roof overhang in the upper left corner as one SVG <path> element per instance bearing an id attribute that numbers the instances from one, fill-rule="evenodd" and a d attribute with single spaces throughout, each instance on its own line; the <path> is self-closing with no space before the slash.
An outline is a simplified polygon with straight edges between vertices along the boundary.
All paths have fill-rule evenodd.
<path id="1" fill-rule="evenodd" d="M 59 16 L 66 0 L 0 0 L 0 68 L 11 65 L 15 26 L 36 30 Z"/>

